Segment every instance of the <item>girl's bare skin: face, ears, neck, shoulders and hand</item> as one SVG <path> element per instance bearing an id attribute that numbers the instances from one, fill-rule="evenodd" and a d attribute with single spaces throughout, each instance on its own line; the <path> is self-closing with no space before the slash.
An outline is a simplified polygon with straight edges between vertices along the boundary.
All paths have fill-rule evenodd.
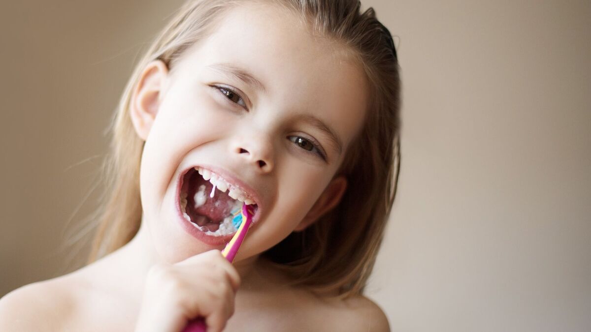
<path id="1" fill-rule="evenodd" d="M 207 68 L 221 62 L 248 70 L 265 91 Z M 242 99 L 233 102 L 219 87 Z M 173 70 L 150 63 L 134 90 L 130 116 L 145 140 L 137 236 L 72 274 L 2 298 L 0 330 L 179 331 L 184 310 L 207 317 L 211 331 L 388 331 L 368 299 L 287 287 L 284 275 L 258 259 L 339 202 L 346 180 L 335 174 L 361 129 L 367 96 L 347 51 L 313 37 L 295 15 L 269 6 L 232 9 Z M 305 120 L 310 115 L 333 129 L 342 151 Z M 307 151 L 296 136 L 318 147 Z M 222 167 L 259 194 L 260 219 L 233 265 L 216 251 L 223 245 L 197 240 L 177 220 L 178 176 L 202 164 Z M 220 291 L 209 294 L 213 288 Z"/>

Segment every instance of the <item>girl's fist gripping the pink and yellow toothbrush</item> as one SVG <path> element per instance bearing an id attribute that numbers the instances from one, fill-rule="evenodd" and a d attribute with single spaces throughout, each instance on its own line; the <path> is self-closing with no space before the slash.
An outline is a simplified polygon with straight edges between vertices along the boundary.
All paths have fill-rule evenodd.
<path id="1" fill-rule="evenodd" d="M 222 331 L 234 313 L 239 285 L 238 272 L 219 250 L 154 265 L 135 331 L 179 332 L 196 317 L 205 319 L 208 332 Z"/>

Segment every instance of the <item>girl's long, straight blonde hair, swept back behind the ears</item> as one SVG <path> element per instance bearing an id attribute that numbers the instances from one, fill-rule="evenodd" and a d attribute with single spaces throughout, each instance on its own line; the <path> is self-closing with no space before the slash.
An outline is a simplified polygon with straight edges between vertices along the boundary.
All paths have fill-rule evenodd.
<path id="1" fill-rule="evenodd" d="M 190 0 L 151 44 L 115 113 L 111 152 L 106 159 L 108 196 L 103 203 L 89 262 L 128 243 L 142 217 L 139 165 L 144 141 L 129 117 L 132 89 L 150 61 L 170 68 L 188 47 L 212 32 L 222 14 L 248 2 L 281 4 L 310 24 L 311 31 L 352 51 L 369 86 L 368 112 L 339 174 L 348 178 L 340 204 L 303 232 L 291 233 L 263 253 L 296 285 L 342 297 L 361 294 L 382 242 L 400 171 L 400 77 L 397 54 L 387 28 L 373 8 L 361 12 L 355 0 Z"/>

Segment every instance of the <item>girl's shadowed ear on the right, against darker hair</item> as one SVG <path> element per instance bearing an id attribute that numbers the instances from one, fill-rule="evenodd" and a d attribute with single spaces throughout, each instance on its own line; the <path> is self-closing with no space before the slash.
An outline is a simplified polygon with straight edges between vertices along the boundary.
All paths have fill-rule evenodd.
<path id="1" fill-rule="evenodd" d="M 296 232 L 301 232 L 308 226 L 316 222 L 324 213 L 332 210 L 340 202 L 340 198 L 345 194 L 347 188 L 347 179 L 340 175 L 333 178 L 324 189 L 314 206 L 310 209 L 306 217 L 294 229 Z"/>

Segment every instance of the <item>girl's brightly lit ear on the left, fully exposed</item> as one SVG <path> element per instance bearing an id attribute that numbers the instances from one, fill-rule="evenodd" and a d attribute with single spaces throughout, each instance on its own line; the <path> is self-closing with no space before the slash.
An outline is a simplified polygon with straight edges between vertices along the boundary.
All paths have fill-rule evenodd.
<path id="1" fill-rule="evenodd" d="M 129 115 L 135 132 L 144 141 L 148 139 L 158 113 L 167 76 L 168 67 L 163 61 L 151 61 L 140 74 L 139 82 L 132 92 Z"/>

